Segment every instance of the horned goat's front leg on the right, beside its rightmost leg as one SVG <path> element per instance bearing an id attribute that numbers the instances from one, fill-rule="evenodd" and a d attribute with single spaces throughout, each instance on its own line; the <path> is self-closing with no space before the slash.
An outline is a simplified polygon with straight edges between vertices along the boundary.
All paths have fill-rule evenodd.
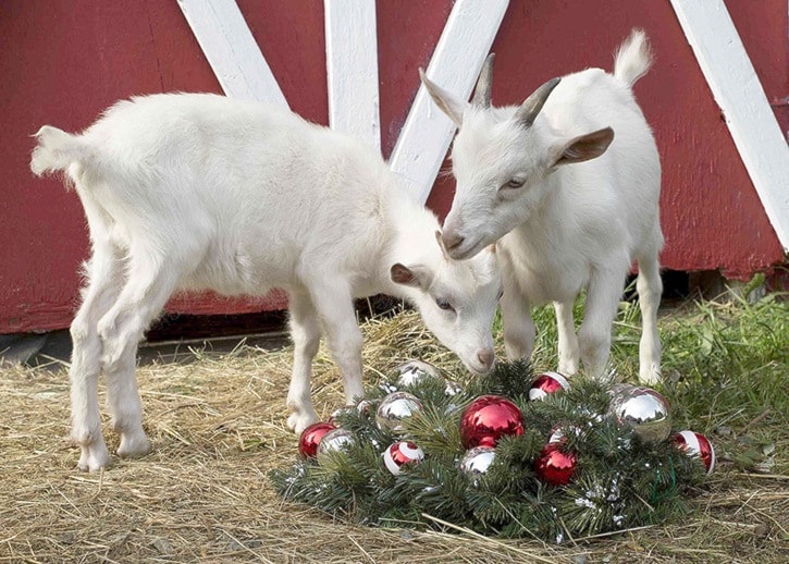
<path id="1" fill-rule="evenodd" d="M 611 355 L 611 332 L 619 306 L 627 269 L 594 270 L 578 331 L 581 360 L 587 375 L 603 379 Z"/>

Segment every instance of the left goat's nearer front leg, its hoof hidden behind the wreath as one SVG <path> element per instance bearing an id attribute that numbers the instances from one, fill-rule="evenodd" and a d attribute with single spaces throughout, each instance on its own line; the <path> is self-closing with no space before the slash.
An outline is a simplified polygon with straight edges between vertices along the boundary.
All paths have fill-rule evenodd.
<path id="1" fill-rule="evenodd" d="M 361 384 L 362 336 L 356 322 L 350 289 L 345 281 L 332 282 L 324 278 L 320 285 L 311 289 L 310 293 L 329 348 L 343 375 L 345 403 L 350 405 L 356 399 L 365 395 Z"/>

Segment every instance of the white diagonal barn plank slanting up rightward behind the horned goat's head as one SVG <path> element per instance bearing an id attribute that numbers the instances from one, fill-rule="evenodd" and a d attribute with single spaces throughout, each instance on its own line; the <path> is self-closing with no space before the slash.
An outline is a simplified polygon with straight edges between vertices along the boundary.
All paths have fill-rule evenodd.
<path id="1" fill-rule="evenodd" d="M 463 99 L 473 89 L 509 0 L 457 0 L 427 69 L 428 77 Z M 455 133 L 424 86 L 419 87 L 390 165 L 424 203 Z"/>

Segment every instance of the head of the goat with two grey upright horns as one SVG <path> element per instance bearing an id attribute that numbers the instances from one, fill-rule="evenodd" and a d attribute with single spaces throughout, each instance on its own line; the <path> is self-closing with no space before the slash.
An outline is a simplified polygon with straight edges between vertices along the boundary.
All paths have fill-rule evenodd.
<path id="1" fill-rule="evenodd" d="M 559 78 L 540 86 L 518 108 L 492 108 L 493 57 L 482 68 L 471 103 L 432 83 L 420 69 L 433 101 L 459 128 L 452 150 L 457 188 L 443 234 L 455 259 L 476 255 L 529 221 L 550 189 L 543 182 L 548 174 L 603 155 L 614 139 L 611 127 L 562 136 L 535 122 Z"/>

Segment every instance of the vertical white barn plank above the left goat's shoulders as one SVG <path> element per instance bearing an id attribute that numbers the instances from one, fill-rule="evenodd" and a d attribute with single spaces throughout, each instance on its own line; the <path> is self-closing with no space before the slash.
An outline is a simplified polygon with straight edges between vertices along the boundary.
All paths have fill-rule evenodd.
<path id="1" fill-rule="evenodd" d="M 381 148 L 375 0 L 324 0 L 329 125 Z"/>

